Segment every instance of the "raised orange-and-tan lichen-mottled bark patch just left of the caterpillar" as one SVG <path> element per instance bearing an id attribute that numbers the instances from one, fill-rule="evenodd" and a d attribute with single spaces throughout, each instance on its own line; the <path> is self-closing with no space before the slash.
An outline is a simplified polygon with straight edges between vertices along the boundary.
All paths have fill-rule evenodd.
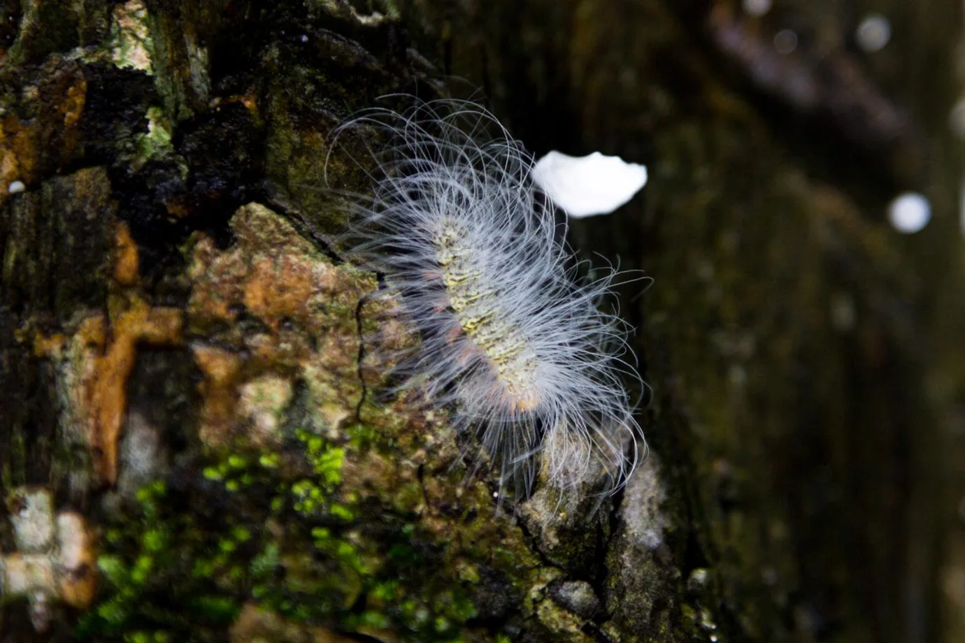
<path id="1" fill-rule="evenodd" d="M 296 378 L 311 413 L 337 431 L 362 395 L 354 311 L 376 287 L 373 276 L 333 266 L 262 205 L 241 207 L 232 228 L 224 250 L 196 237 L 187 271 L 188 329 L 210 340 L 193 348 L 205 373 L 202 440 L 274 440 L 276 415 L 290 403 L 284 389 Z"/>

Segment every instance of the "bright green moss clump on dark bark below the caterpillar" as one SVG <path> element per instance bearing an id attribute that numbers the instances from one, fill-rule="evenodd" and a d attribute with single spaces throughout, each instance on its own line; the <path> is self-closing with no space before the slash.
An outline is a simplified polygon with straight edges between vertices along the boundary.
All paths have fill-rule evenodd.
<path id="1" fill-rule="evenodd" d="M 206 497 L 187 508 L 162 481 L 139 490 L 129 520 L 107 530 L 98 561 L 104 592 L 81 638 L 182 637 L 177 614 L 198 613 L 192 640 L 214 640 L 242 603 L 257 600 L 296 622 L 394 630 L 403 641 L 457 640 L 478 614 L 478 565 L 467 560 L 448 571 L 450 546 L 391 507 L 371 522 L 369 496 L 344 489 L 345 463 L 385 444 L 372 427 L 350 433 L 355 439 L 343 445 L 297 430 L 288 454 L 235 444 L 198 469 Z M 292 457 L 302 465 L 281 466 Z M 354 528 L 360 520 L 379 526 Z M 518 560 L 512 549 L 478 546 L 508 566 Z M 161 594 L 170 611 L 152 607 Z"/>

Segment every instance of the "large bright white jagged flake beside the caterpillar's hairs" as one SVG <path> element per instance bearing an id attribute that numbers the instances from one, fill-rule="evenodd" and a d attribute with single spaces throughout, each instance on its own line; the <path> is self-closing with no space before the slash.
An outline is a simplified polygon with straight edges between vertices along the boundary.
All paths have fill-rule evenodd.
<path id="1" fill-rule="evenodd" d="M 553 150 L 533 167 L 533 180 L 574 218 L 609 214 L 647 185 L 647 167 L 598 151 L 569 156 Z"/>

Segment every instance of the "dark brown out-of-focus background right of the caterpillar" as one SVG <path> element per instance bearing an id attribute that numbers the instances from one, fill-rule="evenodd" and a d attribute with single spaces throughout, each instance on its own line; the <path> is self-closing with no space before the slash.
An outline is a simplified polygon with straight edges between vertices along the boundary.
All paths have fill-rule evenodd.
<path id="1" fill-rule="evenodd" d="M 408 11 L 536 152 L 648 165 L 570 241 L 654 279 L 648 438 L 741 627 L 965 641 L 961 4 Z"/>

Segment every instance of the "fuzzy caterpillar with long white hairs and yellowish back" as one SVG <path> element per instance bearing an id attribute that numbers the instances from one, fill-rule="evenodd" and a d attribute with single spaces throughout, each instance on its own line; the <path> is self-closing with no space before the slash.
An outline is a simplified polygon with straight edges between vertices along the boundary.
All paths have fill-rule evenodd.
<path id="1" fill-rule="evenodd" d="M 352 200 L 350 253 L 384 274 L 422 337 L 400 388 L 418 384 L 457 428 L 481 430 L 516 493 L 532 491 L 537 460 L 554 487 L 619 489 L 646 442 L 622 383 L 639 381 L 626 326 L 597 308 L 617 273 L 577 279 L 532 157 L 483 108 L 373 109 L 336 136 L 360 127 L 390 144 L 372 152 L 372 196 Z"/>

